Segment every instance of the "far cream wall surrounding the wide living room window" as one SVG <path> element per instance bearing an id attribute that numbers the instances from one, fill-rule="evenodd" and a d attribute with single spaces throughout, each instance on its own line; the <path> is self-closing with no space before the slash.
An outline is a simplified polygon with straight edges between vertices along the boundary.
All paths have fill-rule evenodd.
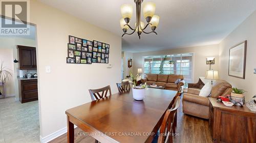
<path id="1" fill-rule="evenodd" d="M 208 46 L 186 47 L 186 48 L 134 53 L 133 54 L 133 59 L 134 59 L 133 71 L 137 73 L 137 69 L 143 67 L 143 56 L 166 55 L 166 54 L 176 54 L 176 53 L 194 53 L 194 82 L 197 82 L 200 76 L 205 76 L 206 70 L 209 69 L 209 65 L 206 65 L 207 57 L 209 56 L 216 57 L 215 65 L 211 65 L 211 69 L 218 70 L 219 45 L 208 45 Z"/>

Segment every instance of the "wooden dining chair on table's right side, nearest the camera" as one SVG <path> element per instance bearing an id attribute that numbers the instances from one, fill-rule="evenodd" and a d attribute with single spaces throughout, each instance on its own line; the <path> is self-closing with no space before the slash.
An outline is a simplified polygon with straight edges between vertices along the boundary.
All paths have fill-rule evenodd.
<path id="1" fill-rule="evenodd" d="M 174 131 L 174 117 L 177 114 L 177 109 L 180 106 L 180 97 L 175 99 L 174 107 L 166 110 L 160 130 L 154 138 L 152 143 L 163 143 L 173 142 L 173 131 Z"/>

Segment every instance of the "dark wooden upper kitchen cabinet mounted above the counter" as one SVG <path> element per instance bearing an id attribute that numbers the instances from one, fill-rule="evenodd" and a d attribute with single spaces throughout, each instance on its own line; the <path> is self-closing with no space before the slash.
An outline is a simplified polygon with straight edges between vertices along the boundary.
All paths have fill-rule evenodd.
<path id="1" fill-rule="evenodd" d="M 29 70 L 36 69 L 36 49 L 35 47 L 17 46 L 19 69 Z"/>

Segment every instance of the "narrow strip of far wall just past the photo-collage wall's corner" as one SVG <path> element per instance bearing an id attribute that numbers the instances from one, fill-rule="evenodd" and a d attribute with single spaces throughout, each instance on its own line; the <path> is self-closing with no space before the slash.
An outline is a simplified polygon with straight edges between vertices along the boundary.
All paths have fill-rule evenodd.
<path id="1" fill-rule="evenodd" d="M 128 67 L 128 60 L 129 59 L 132 59 L 133 60 L 133 64 L 134 64 L 134 59 L 133 59 L 133 53 L 132 52 L 127 52 L 127 51 L 124 51 L 123 52 L 123 73 L 124 73 L 124 78 L 127 76 L 127 75 L 130 75 L 130 72 L 132 71 L 133 72 L 133 67 L 132 66 L 131 68 Z M 134 74 L 137 74 L 137 71 L 136 73 Z"/>

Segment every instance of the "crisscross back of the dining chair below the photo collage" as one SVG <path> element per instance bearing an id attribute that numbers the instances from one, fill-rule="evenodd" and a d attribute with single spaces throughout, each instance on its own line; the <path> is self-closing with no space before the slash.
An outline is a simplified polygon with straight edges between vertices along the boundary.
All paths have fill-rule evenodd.
<path id="1" fill-rule="evenodd" d="M 90 92 L 92 101 L 106 97 L 108 92 L 109 92 L 109 95 L 111 96 L 110 85 L 101 89 L 89 90 L 89 92 Z"/>

